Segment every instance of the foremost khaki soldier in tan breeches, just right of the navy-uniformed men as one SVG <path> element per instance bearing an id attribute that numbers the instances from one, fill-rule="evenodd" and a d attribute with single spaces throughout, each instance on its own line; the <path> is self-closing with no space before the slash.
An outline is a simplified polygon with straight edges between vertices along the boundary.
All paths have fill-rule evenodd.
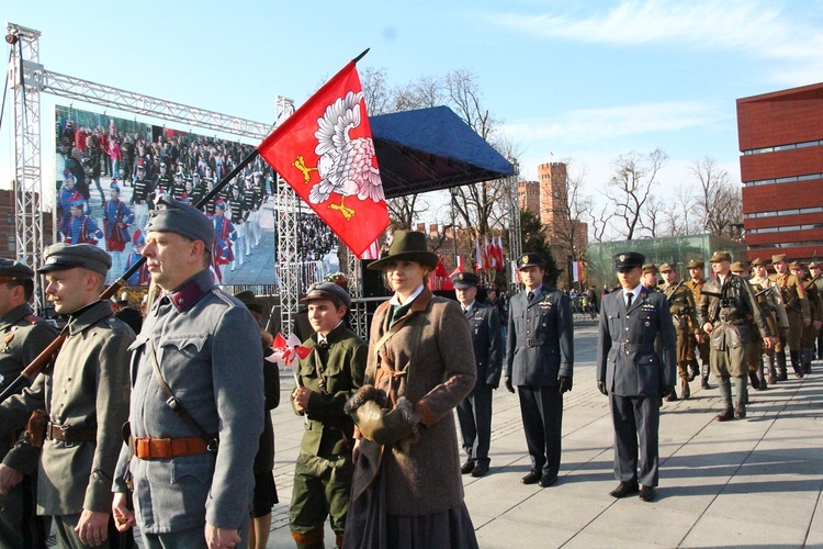
<path id="1" fill-rule="evenodd" d="M 752 292 L 747 280 L 731 272 L 732 258 L 728 251 L 717 251 L 709 259 L 715 278 L 706 282 L 697 316 L 703 332 L 709 334 L 711 345 L 711 369 L 718 378 L 718 390 L 723 410 L 717 415 L 719 422 L 746 417 L 746 346 L 751 340 L 752 315 L 766 347 L 775 344 L 766 315 Z M 732 386 L 737 397 L 732 405 Z"/>

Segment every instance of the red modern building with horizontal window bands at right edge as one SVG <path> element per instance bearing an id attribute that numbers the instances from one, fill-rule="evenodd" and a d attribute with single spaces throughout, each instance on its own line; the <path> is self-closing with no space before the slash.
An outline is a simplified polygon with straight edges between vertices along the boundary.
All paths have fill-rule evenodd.
<path id="1" fill-rule="evenodd" d="M 823 256 L 823 83 L 737 100 L 748 258 Z"/>

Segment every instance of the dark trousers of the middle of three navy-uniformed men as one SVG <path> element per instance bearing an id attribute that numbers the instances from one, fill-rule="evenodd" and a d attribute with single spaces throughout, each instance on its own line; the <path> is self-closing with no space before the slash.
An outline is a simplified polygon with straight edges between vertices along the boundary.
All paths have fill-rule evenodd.
<path id="1" fill-rule="evenodd" d="M 557 474 L 563 427 L 563 395 L 556 386 L 518 385 L 520 416 L 531 469 Z"/>

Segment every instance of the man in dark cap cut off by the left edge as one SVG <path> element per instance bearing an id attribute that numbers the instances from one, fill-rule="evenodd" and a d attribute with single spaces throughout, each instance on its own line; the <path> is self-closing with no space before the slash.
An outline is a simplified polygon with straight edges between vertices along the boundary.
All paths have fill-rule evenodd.
<path id="1" fill-rule="evenodd" d="M 32 269 L 0 259 L 0 391 L 57 335 L 29 305 L 33 290 Z M 45 547 L 47 528 L 34 505 L 40 448 L 25 437 L 12 447 L 20 429 L 0 430 L 0 547 Z"/>

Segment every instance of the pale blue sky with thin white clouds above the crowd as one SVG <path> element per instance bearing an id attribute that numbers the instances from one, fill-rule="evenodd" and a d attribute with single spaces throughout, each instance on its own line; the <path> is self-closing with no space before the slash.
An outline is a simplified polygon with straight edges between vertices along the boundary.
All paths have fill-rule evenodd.
<path id="1" fill-rule="evenodd" d="M 706 156 L 739 181 L 735 100 L 823 79 L 823 0 L 9 1 L 2 12 L 42 32 L 48 70 L 260 122 L 275 96 L 302 103 L 367 47 L 360 66 L 392 85 L 465 69 L 519 144 L 521 176 L 573 158 L 590 194 L 618 155 L 656 147 L 670 157 L 664 200 Z M 66 101 L 42 96 L 44 133 L 55 103 Z"/>

